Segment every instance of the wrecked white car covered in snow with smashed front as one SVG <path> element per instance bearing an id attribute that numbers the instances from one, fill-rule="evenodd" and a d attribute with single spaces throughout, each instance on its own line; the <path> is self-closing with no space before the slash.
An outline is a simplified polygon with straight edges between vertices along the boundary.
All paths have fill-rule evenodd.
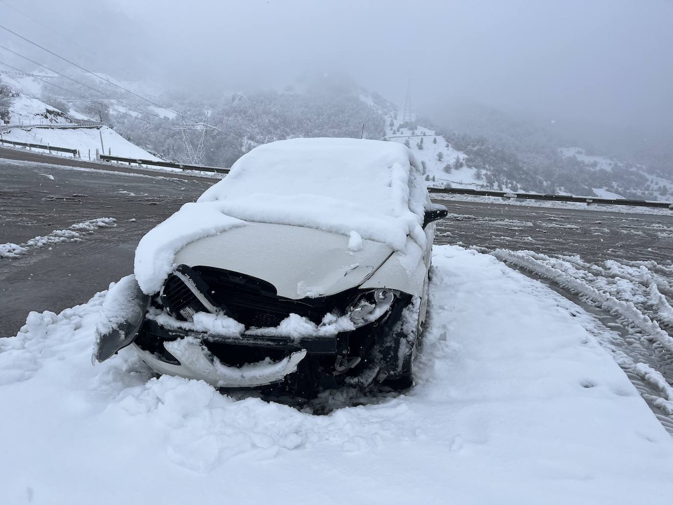
<path id="1" fill-rule="evenodd" d="M 225 389 L 405 389 L 444 216 L 404 145 L 260 145 L 139 242 L 94 357 L 133 344 L 156 372 Z"/>

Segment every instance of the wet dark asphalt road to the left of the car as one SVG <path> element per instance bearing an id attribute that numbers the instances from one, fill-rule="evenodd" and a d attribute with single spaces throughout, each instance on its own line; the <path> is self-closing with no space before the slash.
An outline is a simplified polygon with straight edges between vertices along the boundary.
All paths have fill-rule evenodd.
<path id="1" fill-rule="evenodd" d="M 210 185 L 0 160 L 0 244 L 26 243 L 96 217 L 116 219 L 115 227 L 98 228 L 81 242 L 0 259 L 0 336 L 15 335 L 30 310 L 58 313 L 132 273 L 140 238 Z"/>

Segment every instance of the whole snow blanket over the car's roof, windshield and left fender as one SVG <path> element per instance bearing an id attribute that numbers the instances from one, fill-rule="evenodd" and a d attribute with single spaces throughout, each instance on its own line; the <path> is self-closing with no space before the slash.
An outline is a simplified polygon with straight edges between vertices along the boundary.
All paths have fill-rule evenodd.
<path id="1" fill-rule="evenodd" d="M 184 205 L 143 237 L 135 276 L 143 292 L 157 292 L 178 250 L 245 222 L 346 237 L 355 232 L 398 251 L 410 236 L 423 248 L 426 202 L 420 165 L 403 145 L 323 138 L 260 145 L 197 203 Z"/>

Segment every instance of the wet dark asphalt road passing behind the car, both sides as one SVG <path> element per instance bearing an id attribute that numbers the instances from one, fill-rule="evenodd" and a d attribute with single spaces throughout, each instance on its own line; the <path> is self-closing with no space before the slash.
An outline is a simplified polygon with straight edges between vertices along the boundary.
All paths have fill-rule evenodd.
<path id="1" fill-rule="evenodd" d="M 131 273 L 143 234 L 210 184 L 0 160 L 0 244 L 25 244 L 96 217 L 116 220 L 115 227 L 98 228 L 81 242 L 0 259 L 0 335 L 15 335 L 30 310 L 59 312 Z M 673 233 L 666 232 L 673 230 L 673 215 L 445 204 L 450 215 L 437 228 L 439 244 L 579 254 L 592 262 L 654 259 L 665 265 L 673 257 Z"/>

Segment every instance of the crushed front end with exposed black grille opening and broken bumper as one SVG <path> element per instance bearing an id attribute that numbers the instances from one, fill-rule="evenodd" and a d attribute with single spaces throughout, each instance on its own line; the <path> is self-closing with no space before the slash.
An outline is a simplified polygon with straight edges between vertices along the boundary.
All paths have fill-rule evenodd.
<path id="1" fill-rule="evenodd" d="M 151 298 L 133 345 L 163 374 L 310 396 L 404 376 L 417 335 L 416 299 L 354 288 L 293 300 L 262 279 L 180 265 Z"/>

